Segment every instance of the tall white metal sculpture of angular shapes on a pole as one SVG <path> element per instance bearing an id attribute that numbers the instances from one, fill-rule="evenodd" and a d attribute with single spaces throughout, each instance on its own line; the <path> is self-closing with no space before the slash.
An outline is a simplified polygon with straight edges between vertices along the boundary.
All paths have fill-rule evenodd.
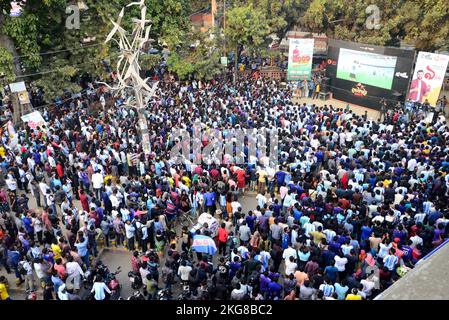
<path id="1" fill-rule="evenodd" d="M 132 22 L 134 23 L 132 34 L 128 35 L 126 30 L 121 27 L 121 22 L 125 14 L 125 8 L 123 7 L 117 21 L 111 20 L 114 27 L 105 40 L 105 43 L 114 40 L 120 47 L 120 55 L 118 57 L 116 69 L 118 85 L 116 87 L 110 87 L 106 83 L 102 84 L 106 85 L 117 94 L 126 91 L 134 92 L 134 96 L 127 99 L 126 103 L 137 108 L 139 114 L 139 127 L 142 134 L 142 148 L 145 154 L 149 154 L 150 138 L 144 110 L 149 99 L 155 95 L 158 82 L 153 83 L 150 87 L 147 83 L 149 78 L 142 79 L 140 77 L 139 72 L 141 68 L 139 65 L 139 57 L 144 45 L 151 42 L 149 36 L 152 21 L 146 18 L 147 7 L 145 6 L 145 0 L 132 2 L 126 7 L 131 6 L 139 6 L 141 13 L 140 19 L 132 19 Z"/>

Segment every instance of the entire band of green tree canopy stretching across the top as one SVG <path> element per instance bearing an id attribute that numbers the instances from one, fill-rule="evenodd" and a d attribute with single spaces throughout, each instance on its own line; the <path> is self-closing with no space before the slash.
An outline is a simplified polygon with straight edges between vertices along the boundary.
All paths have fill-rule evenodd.
<path id="1" fill-rule="evenodd" d="M 32 81 L 44 89 L 49 101 L 66 90 L 79 90 L 77 80 L 85 74 L 107 75 L 105 61 L 114 64 L 117 46 L 103 42 L 111 19 L 115 21 L 131 0 L 84 0 L 87 10 L 80 12 L 80 28 L 72 30 L 65 26 L 66 8 L 76 1 L 21 2 L 22 14 L 10 17 L 10 1 L 0 1 L 0 73 L 5 79 Z M 210 1 L 145 0 L 145 4 L 147 18 L 153 20 L 150 37 L 169 48 L 168 68 L 181 79 L 192 75 L 207 79 L 220 72 L 225 47 L 237 56 L 244 48 L 263 54 L 270 35 L 282 39 L 298 26 L 341 40 L 387 46 L 405 42 L 425 51 L 449 49 L 447 0 L 226 0 L 225 41 L 219 30 L 203 35 L 192 31 L 189 15 L 209 7 Z M 220 18 L 224 1 L 217 4 Z M 367 28 L 372 12 L 366 9 L 373 4 L 379 8 L 380 25 Z M 132 18 L 139 14 L 137 6 L 126 8 L 123 27 L 131 30 Z M 192 43 L 199 44 L 192 49 Z"/>

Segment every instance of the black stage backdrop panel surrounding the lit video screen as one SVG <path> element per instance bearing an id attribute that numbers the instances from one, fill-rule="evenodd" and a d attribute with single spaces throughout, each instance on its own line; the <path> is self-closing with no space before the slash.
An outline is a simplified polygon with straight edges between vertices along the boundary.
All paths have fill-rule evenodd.
<path id="1" fill-rule="evenodd" d="M 326 77 L 334 98 L 379 109 L 405 100 L 414 61 L 411 49 L 329 40 Z"/>

